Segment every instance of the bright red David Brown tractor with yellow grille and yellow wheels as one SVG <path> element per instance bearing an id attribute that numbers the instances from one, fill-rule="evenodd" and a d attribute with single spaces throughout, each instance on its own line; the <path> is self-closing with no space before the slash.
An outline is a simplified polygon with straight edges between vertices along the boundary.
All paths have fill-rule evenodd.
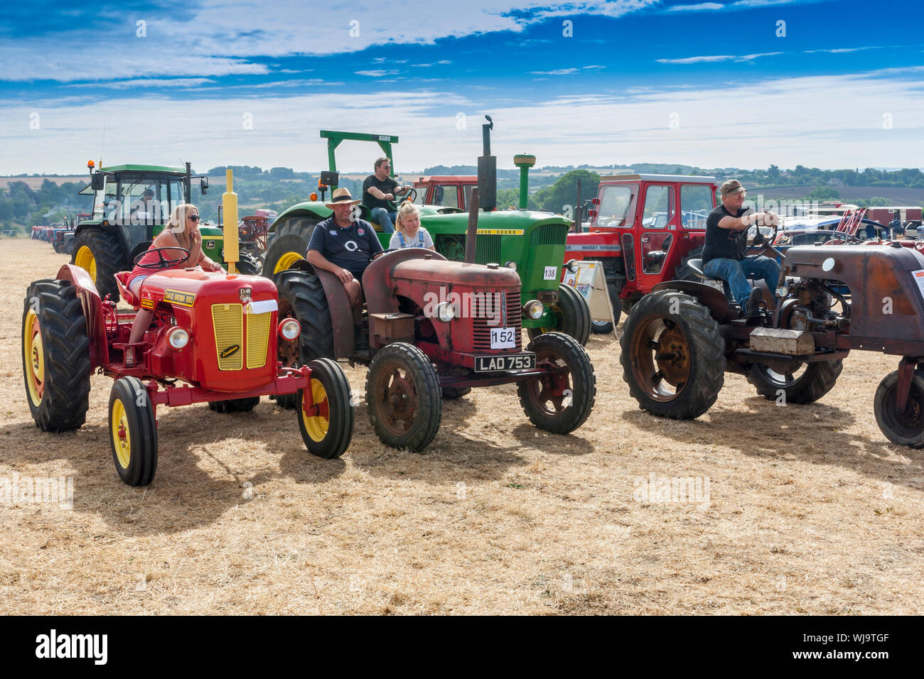
<path id="1" fill-rule="evenodd" d="M 229 240 L 237 231 L 234 216 Z M 236 257 L 236 251 L 229 252 L 229 261 Z M 343 454 L 353 434 L 346 376 L 329 359 L 301 368 L 277 360 L 277 334 L 285 341 L 297 338 L 301 329 L 297 321 L 277 318 L 273 282 L 198 267 L 163 270 L 179 261 L 166 260 L 161 252 L 140 299 L 125 286 L 128 273 L 116 274 L 123 298 L 136 310 L 153 312 L 151 326 L 133 345 L 128 335 L 135 314 L 118 313 L 115 302 L 101 299 L 82 268 L 66 264 L 55 280 L 30 285 L 22 315 L 22 364 L 35 424 L 44 431 L 79 429 L 89 408 L 90 376 L 98 370 L 116 380 L 109 397 L 110 443 L 116 471 L 129 486 L 154 478 L 156 407 L 163 405 L 208 402 L 219 412 L 246 412 L 261 395 L 294 394 L 298 428 L 309 451 L 327 458 Z M 136 358 L 132 367 L 125 361 L 129 347 Z"/>

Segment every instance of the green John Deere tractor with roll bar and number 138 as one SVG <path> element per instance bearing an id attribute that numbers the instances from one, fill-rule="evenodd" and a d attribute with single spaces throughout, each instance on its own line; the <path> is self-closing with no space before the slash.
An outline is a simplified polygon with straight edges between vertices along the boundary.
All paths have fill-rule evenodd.
<path id="1" fill-rule="evenodd" d="M 490 121 L 490 118 L 489 118 Z M 494 210 L 496 196 L 496 158 L 491 155 L 490 129 L 493 124 L 484 125 L 484 154 L 479 158 L 479 193 L 482 210 L 478 221 L 475 262 L 497 263 L 519 273 L 521 298 L 539 299 L 543 304 L 539 318 L 523 318 L 523 327 L 529 337 L 553 331 L 569 334 L 582 345 L 590 336 L 590 309 L 587 302 L 573 287 L 560 284 L 562 261 L 565 259 L 565 236 L 571 222 L 560 214 L 533 212 L 525 209 L 527 197 L 526 176 L 529 166 L 535 162 L 532 156 L 517 156 L 515 163 L 521 170 L 520 209 Z M 322 139 L 327 139 L 328 165 L 330 170 L 322 172 L 319 188 L 321 200 L 316 194 L 311 200 L 300 202 L 282 212 L 270 227 L 267 248 L 263 257 L 262 275 L 274 278 L 286 271 L 298 260 L 305 259 L 311 233 L 315 224 L 331 216 L 333 211 L 324 205 L 323 191 L 336 188 L 339 174 L 336 171 L 334 150 L 345 140 L 374 141 L 379 144 L 385 156 L 392 161 L 392 144 L 398 140 L 394 135 L 366 134 L 359 132 L 336 132 L 321 130 Z M 531 159 L 531 162 L 529 161 Z M 395 163 L 391 162 L 392 176 Z M 411 189 L 406 200 L 415 200 L 416 191 Z M 359 205 L 360 219 L 371 222 L 371 210 Z M 439 205 L 419 205 L 420 225 L 433 238 L 436 251 L 450 261 L 465 261 L 466 231 L 468 214 L 459 208 Z M 373 224 L 376 235 L 384 249 L 388 249 L 391 234 L 381 233 L 379 224 Z M 566 265 L 565 265 L 566 266 Z"/>

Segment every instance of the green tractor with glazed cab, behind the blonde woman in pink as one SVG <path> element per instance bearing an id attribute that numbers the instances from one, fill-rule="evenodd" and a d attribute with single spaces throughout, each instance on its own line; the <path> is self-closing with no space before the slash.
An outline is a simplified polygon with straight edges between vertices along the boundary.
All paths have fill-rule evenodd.
<path id="1" fill-rule="evenodd" d="M 164 230 L 176 205 L 192 202 L 192 171 L 186 167 L 124 164 L 90 168 L 90 184 L 81 195 L 93 196 L 90 219 L 81 221 L 74 233 L 71 263 L 90 273 L 100 297 L 118 301 L 116 272 L 129 271 L 135 258 L 151 246 Z M 197 176 L 204 195 L 207 176 Z M 225 262 L 222 229 L 200 226 L 202 251 L 213 261 Z M 237 272 L 258 275 L 260 265 L 252 255 L 241 253 Z"/>

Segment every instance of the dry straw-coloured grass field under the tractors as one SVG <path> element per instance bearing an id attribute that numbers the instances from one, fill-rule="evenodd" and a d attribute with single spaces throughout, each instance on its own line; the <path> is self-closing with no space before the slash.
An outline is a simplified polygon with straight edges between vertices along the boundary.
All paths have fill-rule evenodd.
<path id="1" fill-rule="evenodd" d="M 81 430 L 34 426 L 22 298 L 67 257 L 3 244 L 0 478 L 73 477 L 74 503 L 0 504 L 0 612 L 924 612 L 924 452 L 872 416 L 895 358 L 851 355 L 811 406 L 728 375 L 707 415 L 675 422 L 638 410 L 615 336 L 593 336 L 597 403 L 574 435 L 532 427 L 508 385 L 446 402 L 422 455 L 378 443 L 361 403 L 333 461 L 265 398 L 161 408 L 157 477 L 133 489 L 111 380 L 92 378 Z M 365 369 L 346 372 L 361 402 Z M 651 474 L 708 479 L 708 502 L 640 502 Z"/>

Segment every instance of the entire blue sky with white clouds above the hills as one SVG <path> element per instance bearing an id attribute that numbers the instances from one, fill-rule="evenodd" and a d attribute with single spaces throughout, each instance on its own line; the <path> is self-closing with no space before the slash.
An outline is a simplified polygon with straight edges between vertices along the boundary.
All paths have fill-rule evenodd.
<path id="1" fill-rule="evenodd" d="M 398 171 L 922 166 L 917 4 L 236 0 L 6 6 L 0 174 L 103 162 L 291 166 L 318 130 L 397 134 Z M 338 150 L 364 171 L 375 152 Z"/>

